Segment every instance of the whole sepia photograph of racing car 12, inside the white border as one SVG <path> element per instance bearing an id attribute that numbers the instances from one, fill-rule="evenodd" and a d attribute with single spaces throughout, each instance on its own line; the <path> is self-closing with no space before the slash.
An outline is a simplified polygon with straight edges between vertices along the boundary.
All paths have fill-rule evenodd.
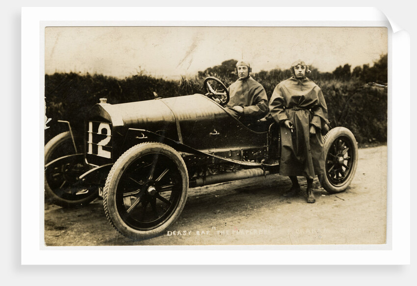
<path id="1" fill-rule="evenodd" d="M 45 246 L 387 243 L 388 27 L 41 32 Z"/>

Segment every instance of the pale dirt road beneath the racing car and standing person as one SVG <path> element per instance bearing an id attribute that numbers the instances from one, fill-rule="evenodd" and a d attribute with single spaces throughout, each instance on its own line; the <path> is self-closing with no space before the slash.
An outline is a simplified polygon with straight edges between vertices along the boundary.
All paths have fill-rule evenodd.
<path id="1" fill-rule="evenodd" d="M 160 237 L 131 241 L 107 221 L 103 201 L 79 209 L 45 206 L 47 246 L 382 244 L 386 241 L 387 146 L 359 150 L 347 191 L 315 180 L 316 203 L 284 198 L 286 177 L 271 175 L 189 190 L 182 215 Z"/>

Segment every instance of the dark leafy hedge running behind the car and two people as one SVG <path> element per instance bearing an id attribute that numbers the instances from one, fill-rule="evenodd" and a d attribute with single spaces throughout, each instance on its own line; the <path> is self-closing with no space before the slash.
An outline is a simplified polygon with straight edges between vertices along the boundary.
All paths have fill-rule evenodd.
<path id="1" fill-rule="evenodd" d="M 322 89 L 326 99 L 329 120 L 333 127 L 349 128 L 359 143 L 387 141 L 387 89 L 371 87 L 367 81 L 385 83 L 387 78 L 387 56 L 369 68 L 356 67 L 350 72 L 350 66 L 339 67 L 333 73 L 321 73 L 310 67 L 309 77 Z M 199 71 L 195 77 L 180 80 L 164 80 L 140 73 L 125 79 L 116 79 L 101 74 L 54 73 L 45 75 L 46 116 L 52 119 L 51 128 L 45 132 L 45 142 L 56 134 L 66 131 L 64 124 L 55 124 L 55 120 L 68 120 L 83 130 L 83 120 L 89 109 L 107 98 L 111 104 L 148 100 L 158 97 L 204 94 L 203 81 L 206 76 L 215 76 L 226 86 L 233 83 L 237 75 L 234 72 L 235 60 L 228 60 L 219 66 Z M 349 71 L 348 71 L 349 70 Z M 371 75 L 375 77 L 371 77 Z M 291 71 L 275 69 L 252 74 L 264 87 L 268 99 L 275 86 L 291 76 Z M 385 81 L 384 81 L 385 80 Z"/>

